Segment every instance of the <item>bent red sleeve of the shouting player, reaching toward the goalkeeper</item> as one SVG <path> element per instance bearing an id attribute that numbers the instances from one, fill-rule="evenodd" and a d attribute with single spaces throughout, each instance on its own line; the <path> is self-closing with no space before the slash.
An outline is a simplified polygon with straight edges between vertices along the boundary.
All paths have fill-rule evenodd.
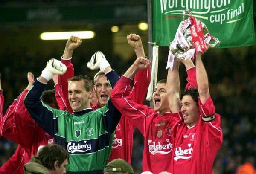
<path id="1" fill-rule="evenodd" d="M 148 107 L 137 104 L 129 95 L 131 79 L 122 75 L 111 92 L 111 101 L 116 108 L 124 114 L 144 135 L 145 119 L 151 117 L 148 115 Z"/>

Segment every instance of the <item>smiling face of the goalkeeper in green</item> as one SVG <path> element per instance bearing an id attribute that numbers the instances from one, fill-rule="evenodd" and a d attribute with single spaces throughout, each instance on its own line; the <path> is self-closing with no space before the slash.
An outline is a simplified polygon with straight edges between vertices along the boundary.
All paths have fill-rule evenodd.
<path id="1" fill-rule="evenodd" d="M 73 111 L 78 112 L 90 107 L 92 91 L 86 91 L 84 81 L 70 81 L 68 84 L 68 99 Z"/>

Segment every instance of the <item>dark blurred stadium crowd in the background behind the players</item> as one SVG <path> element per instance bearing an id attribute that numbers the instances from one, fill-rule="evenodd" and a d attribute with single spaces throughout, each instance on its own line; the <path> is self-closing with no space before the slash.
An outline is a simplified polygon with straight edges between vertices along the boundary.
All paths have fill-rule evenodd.
<path id="1" fill-rule="evenodd" d="M 18 4 L 23 4 L 18 1 Z M 29 5 L 48 4 L 48 1 L 26 1 Z M 61 1 L 53 1 L 61 3 Z M 81 1 L 76 1 L 80 3 Z M 89 1 L 88 1 L 89 2 Z M 106 3 L 107 1 L 105 1 Z M 116 2 L 116 1 L 113 1 Z M 122 1 L 120 1 L 122 2 Z M 146 0 L 136 1 L 146 7 Z M 255 7 L 255 1 L 253 1 Z M 16 5 L 15 5 L 16 4 Z M 26 4 L 25 4 L 26 5 Z M 25 6 L 24 5 L 24 6 Z M 29 7 L 29 5 L 26 5 Z M 130 4 L 131 5 L 131 4 Z M 2 0 L 0 8 L 17 6 L 16 1 Z M 1 13 L 1 12 L 0 12 Z M 143 12 L 146 21 L 146 12 Z M 92 19 L 93 20 L 93 19 Z M 0 20 L 1 21 L 1 20 Z M 256 10 L 254 8 L 254 23 Z M 137 33 L 141 36 L 146 54 L 148 54 L 148 31 L 137 29 L 139 21 L 117 21 L 119 32 L 110 31 L 113 22 L 104 20 L 96 23 L 3 23 L 0 25 L 0 73 L 4 111 L 13 100 L 26 88 L 27 72 L 40 75 L 49 58 L 60 59 L 66 40 L 42 41 L 39 39 L 42 29 L 94 29 L 96 37 L 83 40 L 82 45 L 73 53 L 75 75 L 86 74 L 93 78 L 97 71 L 88 70 L 86 64 L 91 55 L 101 50 L 117 73 L 122 74 L 136 58 L 127 44 L 126 35 Z M 236 37 L 236 36 L 234 36 Z M 253 36 L 252 36 L 253 37 Z M 166 78 L 166 60 L 169 49 L 159 48 L 158 80 Z M 214 174 L 234 174 L 245 162 L 256 168 L 256 46 L 239 48 L 212 48 L 204 55 L 204 64 L 209 76 L 210 94 L 215 103 L 216 112 L 221 114 L 223 145 L 219 150 L 214 166 Z M 186 84 L 185 67 L 180 67 L 181 87 Z M 53 82 L 47 85 L 53 88 Z M 150 105 L 150 102 L 145 101 Z M 132 166 L 136 173 L 141 171 L 141 159 L 144 140 L 135 129 Z M 0 165 L 12 156 L 17 144 L 0 139 Z M 205 159 L 202 159 L 205 160 Z"/>

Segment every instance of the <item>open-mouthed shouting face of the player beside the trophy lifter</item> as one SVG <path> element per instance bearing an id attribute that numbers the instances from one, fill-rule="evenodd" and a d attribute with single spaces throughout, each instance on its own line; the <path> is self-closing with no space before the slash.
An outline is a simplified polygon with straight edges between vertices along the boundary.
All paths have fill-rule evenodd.
<path id="1" fill-rule="evenodd" d="M 168 95 L 165 83 L 158 83 L 153 93 L 154 110 L 159 111 L 161 115 L 170 111 Z"/>

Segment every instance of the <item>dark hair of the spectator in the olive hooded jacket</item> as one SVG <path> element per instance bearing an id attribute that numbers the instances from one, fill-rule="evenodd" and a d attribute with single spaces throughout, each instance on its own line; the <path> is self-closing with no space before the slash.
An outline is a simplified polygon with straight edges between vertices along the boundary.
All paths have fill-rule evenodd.
<path id="1" fill-rule="evenodd" d="M 50 144 L 41 148 L 34 158 L 47 169 L 54 169 L 54 162 L 58 161 L 60 167 L 66 159 L 69 160 L 69 154 L 61 145 Z"/>

